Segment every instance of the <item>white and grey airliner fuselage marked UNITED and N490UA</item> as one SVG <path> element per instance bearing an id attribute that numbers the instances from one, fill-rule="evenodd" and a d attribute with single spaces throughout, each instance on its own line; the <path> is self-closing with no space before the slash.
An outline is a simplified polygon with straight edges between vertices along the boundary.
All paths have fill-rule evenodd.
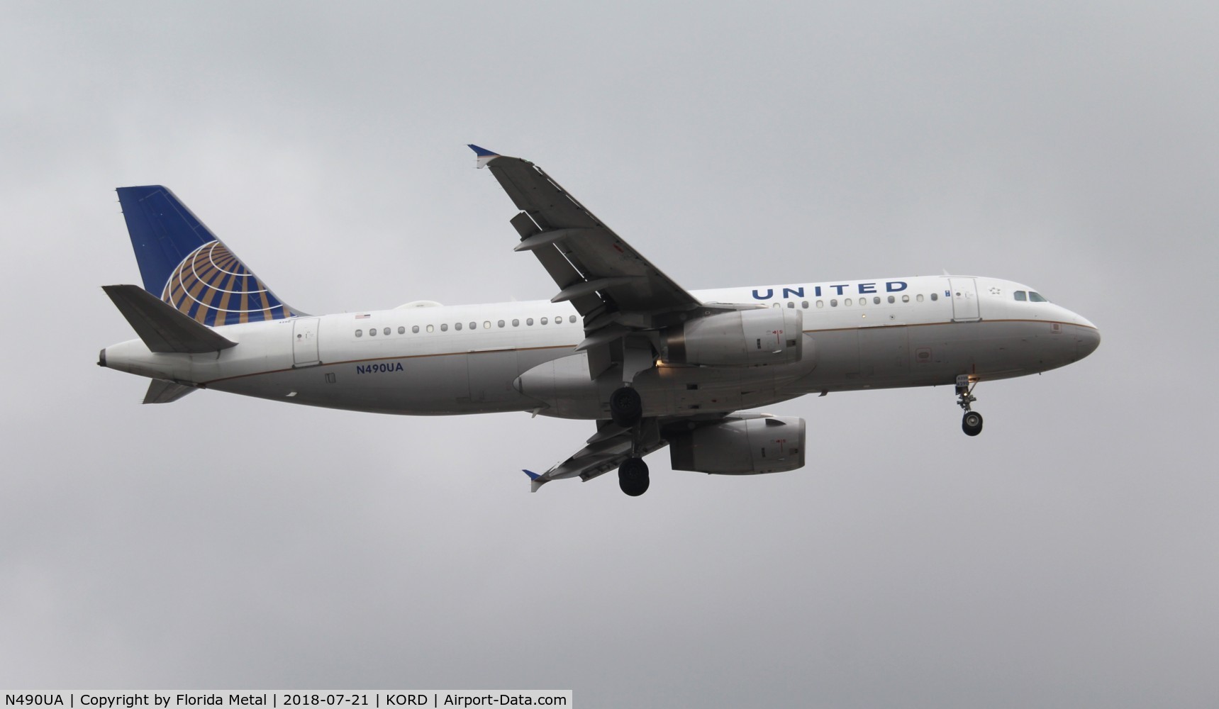
<path id="1" fill-rule="evenodd" d="M 766 367 L 656 367 L 633 386 L 645 415 L 731 412 L 809 392 L 952 384 L 1045 372 L 1091 353 L 1100 334 L 1017 283 L 915 277 L 695 291 L 703 303 L 800 309 L 805 354 Z M 106 367 L 294 403 L 395 414 L 535 411 L 606 418 L 620 373 L 589 378 L 583 323 L 549 301 L 401 307 L 216 328 L 238 346 L 152 353 L 107 347 Z"/>

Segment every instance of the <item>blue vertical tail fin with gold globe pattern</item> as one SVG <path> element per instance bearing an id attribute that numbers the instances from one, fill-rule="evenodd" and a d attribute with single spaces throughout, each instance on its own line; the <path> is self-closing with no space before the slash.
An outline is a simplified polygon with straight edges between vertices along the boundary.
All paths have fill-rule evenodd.
<path id="1" fill-rule="evenodd" d="M 161 185 L 118 188 L 144 290 L 205 325 L 304 314 L 275 297 Z"/>

